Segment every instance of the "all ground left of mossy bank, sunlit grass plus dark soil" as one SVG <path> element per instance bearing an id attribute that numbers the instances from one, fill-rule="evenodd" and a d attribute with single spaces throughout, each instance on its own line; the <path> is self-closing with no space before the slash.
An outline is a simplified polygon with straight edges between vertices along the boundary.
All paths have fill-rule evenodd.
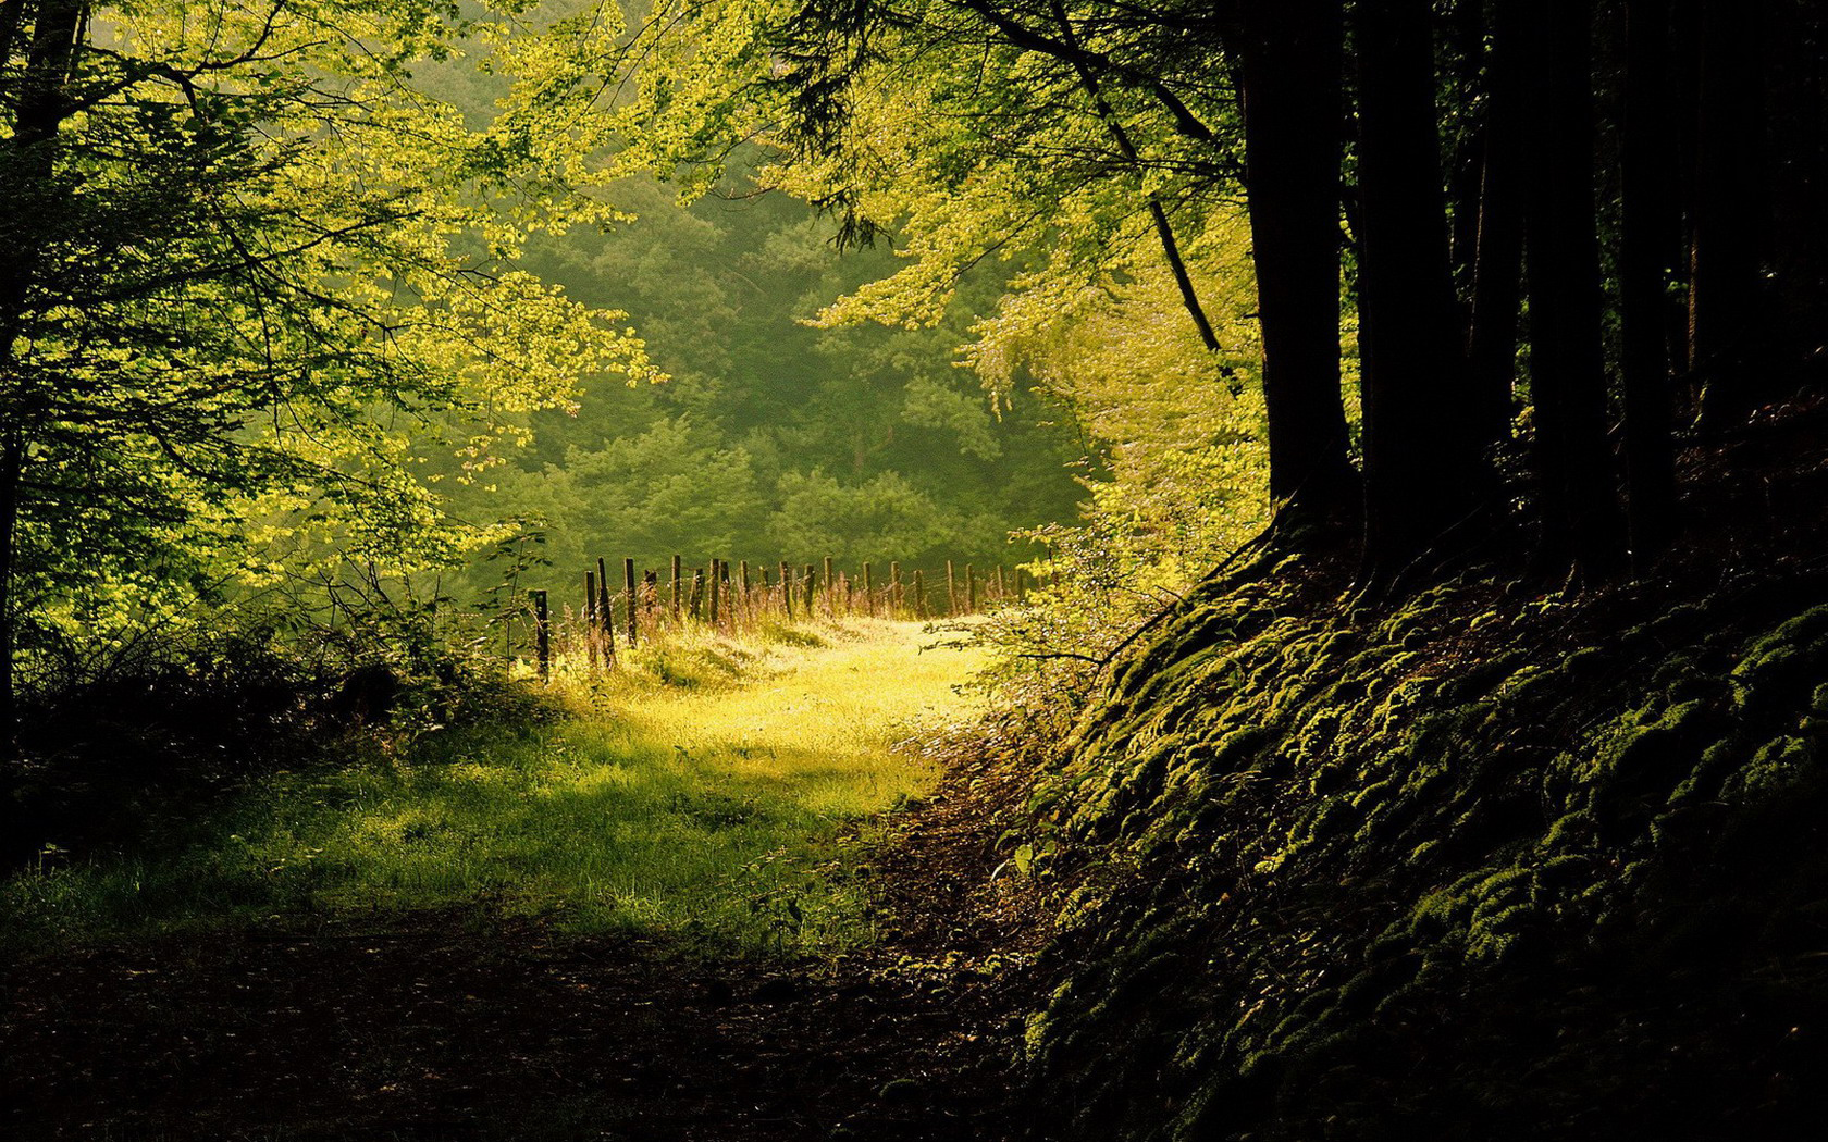
<path id="1" fill-rule="evenodd" d="M 806 645 L 813 643 L 813 645 Z M 16 879 L 9 1138 L 996 1138 L 1038 934 L 912 623 L 656 647 L 545 725 Z"/>

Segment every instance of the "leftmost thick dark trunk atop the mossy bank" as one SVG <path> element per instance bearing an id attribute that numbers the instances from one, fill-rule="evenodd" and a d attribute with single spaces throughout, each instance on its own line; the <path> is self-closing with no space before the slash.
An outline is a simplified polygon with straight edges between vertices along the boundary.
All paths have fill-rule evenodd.
<path id="1" fill-rule="evenodd" d="M 1340 398 L 1344 35 L 1336 0 L 1247 0 L 1239 13 L 1269 493 L 1283 513 L 1331 519 L 1360 502 Z"/>

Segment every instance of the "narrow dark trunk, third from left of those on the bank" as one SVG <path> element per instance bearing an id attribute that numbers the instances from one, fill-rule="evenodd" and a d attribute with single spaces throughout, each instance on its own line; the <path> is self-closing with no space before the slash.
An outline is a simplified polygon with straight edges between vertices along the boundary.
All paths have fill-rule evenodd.
<path id="1" fill-rule="evenodd" d="M 1523 91 L 1525 0 L 1493 5 L 1486 62 L 1486 141 L 1481 155 L 1479 250 L 1473 312 L 1466 338 L 1473 431 L 1483 448 L 1510 437 L 1517 373 L 1517 314 L 1523 305 L 1523 179 L 1526 110 Z"/>

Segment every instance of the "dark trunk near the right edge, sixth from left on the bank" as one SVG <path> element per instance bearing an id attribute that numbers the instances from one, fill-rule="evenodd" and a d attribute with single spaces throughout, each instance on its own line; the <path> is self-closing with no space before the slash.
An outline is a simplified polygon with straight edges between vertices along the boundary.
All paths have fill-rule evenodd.
<path id="1" fill-rule="evenodd" d="M 1764 179 L 1766 0 L 1700 2 L 1700 115 L 1689 248 L 1689 358 L 1702 378 L 1702 424 L 1727 428 L 1770 397 L 1759 347 Z"/>

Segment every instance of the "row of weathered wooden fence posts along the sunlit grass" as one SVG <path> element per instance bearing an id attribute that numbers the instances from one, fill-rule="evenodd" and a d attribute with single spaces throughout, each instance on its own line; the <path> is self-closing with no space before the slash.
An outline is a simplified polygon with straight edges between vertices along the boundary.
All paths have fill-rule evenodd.
<path id="1" fill-rule="evenodd" d="M 623 559 L 612 568 L 598 559 L 579 574 L 576 607 L 554 607 L 545 590 L 530 592 L 534 623 L 534 661 L 541 678 L 550 678 L 554 654 L 579 654 L 592 671 L 614 669 L 623 647 L 642 640 L 660 640 L 684 629 L 709 629 L 724 634 L 753 630 L 762 623 L 810 619 L 888 618 L 934 619 L 978 614 L 1005 599 L 1027 594 L 1029 577 L 1022 568 L 994 566 L 978 572 L 972 565 L 945 563 L 943 587 L 929 583 L 923 570 L 903 574 L 888 563 L 887 576 L 865 563 L 857 576 L 839 568 L 832 557 L 812 563 L 751 565 L 742 559 L 711 559 L 704 566 L 686 566 L 673 555 L 671 574 L 662 568 L 636 568 Z M 614 577 L 612 577 L 614 576 Z M 934 568 L 934 579 L 940 570 Z"/>

